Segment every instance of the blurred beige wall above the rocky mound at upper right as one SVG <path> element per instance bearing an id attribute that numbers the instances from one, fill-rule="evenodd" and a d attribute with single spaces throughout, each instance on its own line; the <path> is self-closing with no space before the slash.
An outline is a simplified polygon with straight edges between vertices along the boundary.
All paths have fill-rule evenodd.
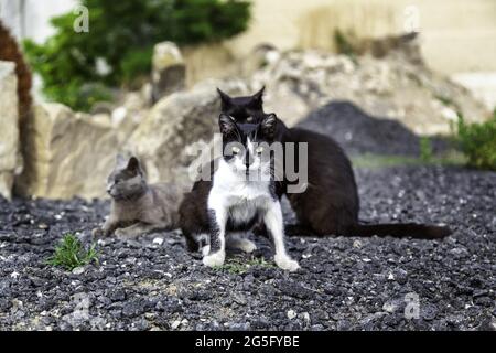
<path id="1" fill-rule="evenodd" d="M 250 30 L 229 42 L 237 56 L 260 42 L 280 49 L 332 49 L 336 26 L 353 29 L 357 34 L 382 35 L 418 24 L 422 52 L 432 68 L 445 74 L 496 71 L 495 0 L 252 2 Z"/>

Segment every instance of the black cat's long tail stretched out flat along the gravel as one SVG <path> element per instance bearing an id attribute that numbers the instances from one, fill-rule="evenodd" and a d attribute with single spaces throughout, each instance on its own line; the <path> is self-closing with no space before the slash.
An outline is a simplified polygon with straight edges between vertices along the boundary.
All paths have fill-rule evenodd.
<path id="1" fill-rule="evenodd" d="M 419 223 L 356 224 L 349 227 L 347 236 L 392 236 L 417 239 L 442 239 L 452 232 L 448 226 Z"/>

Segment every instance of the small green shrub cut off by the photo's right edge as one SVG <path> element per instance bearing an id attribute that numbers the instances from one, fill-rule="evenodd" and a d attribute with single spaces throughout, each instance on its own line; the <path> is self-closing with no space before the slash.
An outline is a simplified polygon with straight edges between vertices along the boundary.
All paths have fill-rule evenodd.
<path id="1" fill-rule="evenodd" d="M 456 140 L 471 167 L 496 170 L 496 111 L 483 124 L 466 124 L 459 115 Z"/>

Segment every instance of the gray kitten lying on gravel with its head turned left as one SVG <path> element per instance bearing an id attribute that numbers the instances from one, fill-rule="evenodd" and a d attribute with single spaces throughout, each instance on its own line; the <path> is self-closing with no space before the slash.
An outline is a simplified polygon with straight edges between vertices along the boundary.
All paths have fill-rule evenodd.
<path id="1" fill-rule="evenodd" d="M 176 228 L 184 191 L 171 183 L 148 184 L 138 159 L 126 160 L 119 154 L 107 179 L 112 199 L 110 215 L 101 228 L 93 229 L 93 235 L 115 234 L 129 239 L 155 229 Z"/>

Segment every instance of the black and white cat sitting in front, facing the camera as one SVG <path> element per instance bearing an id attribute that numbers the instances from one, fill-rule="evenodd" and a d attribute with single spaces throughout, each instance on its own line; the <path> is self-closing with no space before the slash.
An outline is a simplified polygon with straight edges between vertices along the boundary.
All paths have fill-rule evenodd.
<path id="1" fill-rule="evenodd" d="M 223 157 L 211 181 L 197 181 L 180 207 L 181 228 L 190 249 L 197 249 L 196 239 L 207 234 L 209 244 L 203 248 L 203 263 L 214 267 L 224 264 L 226 247 L 250 253 L 256 246 L 244 234 L 263 223 L 274 245 L 274 263 L 294 271 L 300 266 L 284 247 L 284 227 L 276 193 L 273 156 L 270 146 L 277 142 L 273 114 L 257 116 L 257 122 L 238 124 L 226 114 L 219 116 Z"/>

